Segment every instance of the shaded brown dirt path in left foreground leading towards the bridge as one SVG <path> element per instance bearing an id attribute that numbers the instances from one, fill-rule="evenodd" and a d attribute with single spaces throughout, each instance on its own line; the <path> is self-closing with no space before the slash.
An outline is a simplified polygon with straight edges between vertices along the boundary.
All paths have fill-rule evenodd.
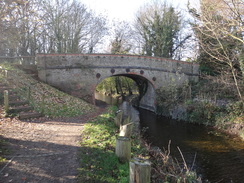
<path id="1" fill-rule="evenodd" d="M 67 119 L 19 121 L 0 119 L 9 163 L 0 183 L 74 183 L 79 168 L 79 141 L 84 123 L 103 112 Z"/>

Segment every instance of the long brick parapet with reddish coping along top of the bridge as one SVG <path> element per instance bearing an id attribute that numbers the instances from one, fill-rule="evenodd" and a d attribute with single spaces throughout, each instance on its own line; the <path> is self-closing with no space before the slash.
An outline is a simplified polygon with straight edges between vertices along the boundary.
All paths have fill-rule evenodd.
<path id="1" fill-rule="evenodd" d="M 38 66 L 43 69 L 68 69 L 79 67 L 127 67 L 135 69 L 181 72 L 198 75 L 198 64 L 160 57 L 111 54 L 39 54 Z"/>

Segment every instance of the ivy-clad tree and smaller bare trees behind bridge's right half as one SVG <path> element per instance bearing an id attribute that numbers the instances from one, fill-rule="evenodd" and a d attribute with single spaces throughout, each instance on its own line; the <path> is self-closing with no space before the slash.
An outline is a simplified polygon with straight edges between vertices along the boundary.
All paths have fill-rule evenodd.
<path id="1" fill-rule="evenodd" d="M 180 48 L 191 37 L 182 33 L 183 26 L 179 11 L 155 0 L 138 10 L 132 26 L 126 22 L 113 26 L 110 52 L 181 59 Z"/>

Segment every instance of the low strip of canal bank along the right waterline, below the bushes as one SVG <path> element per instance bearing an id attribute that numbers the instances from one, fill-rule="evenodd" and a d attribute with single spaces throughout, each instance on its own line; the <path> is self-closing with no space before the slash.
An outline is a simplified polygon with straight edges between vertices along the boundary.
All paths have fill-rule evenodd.
<path id="1" fill-rule="evenodd" d="M 244 105 L 240 102 L 192 100 L 163 108 L 161 116 L 211 126 L 244 141 Z"/>

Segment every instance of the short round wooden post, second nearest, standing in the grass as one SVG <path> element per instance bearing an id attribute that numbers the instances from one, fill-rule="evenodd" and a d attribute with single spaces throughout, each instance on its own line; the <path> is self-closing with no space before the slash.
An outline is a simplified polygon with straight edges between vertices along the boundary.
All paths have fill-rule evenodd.
<path id="1" fill-rule="evenodd" d="M 115 154 L 121 163 L 129 162 L 131 159 L 131 141 L 128 137 L 116 137 Z"/>

